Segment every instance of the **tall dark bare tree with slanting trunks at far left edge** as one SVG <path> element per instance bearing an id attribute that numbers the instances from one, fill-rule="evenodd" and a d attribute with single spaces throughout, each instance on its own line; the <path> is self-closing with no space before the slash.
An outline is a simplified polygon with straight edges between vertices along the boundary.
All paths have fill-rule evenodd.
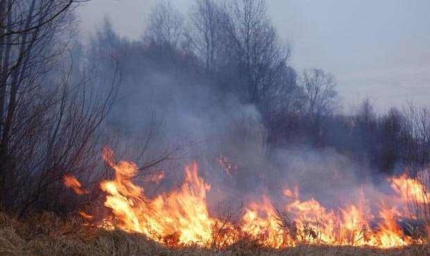
<path id="1" fill-rule="evenodd" d="M 11 1 L 0 3 L 0 189 L 2 199 L 15 183 L 14 150 L 40 118 L 34 107 L 44 106 L 36 97 L 41 77 L 55 65 L 67 44 L 63 35 L 74 19 L 76 1 Z M 53 38 L 58 40 L 53 42 Z M 65 39 L 65 40 L 63 40 Z M 58 44 L 57 44 L 58 43 Z M 42 107 L 42 108 L 43 108 Z M 23 113 L 28 116 L 22 116 Z M 27 122 L 22 123 L 24 120 Z M 8 188 L 5 188 L 7 186 Z"/>

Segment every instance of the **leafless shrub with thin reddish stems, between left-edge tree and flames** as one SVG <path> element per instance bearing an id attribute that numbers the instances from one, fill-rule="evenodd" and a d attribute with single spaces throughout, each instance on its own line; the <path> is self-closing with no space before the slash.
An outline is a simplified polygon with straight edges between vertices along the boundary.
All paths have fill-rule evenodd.
<path id="1" fill-rule="evenodd" d="M 58 210 L 61 203 L 55 196 L 65 191 L 61 182 L 65 174 L 73 174 L 83 181 L 94 181 L 100 175 L 102 123 L 121 82 L 119 64 L 112 64 L 112 77 L 102 76 L 96 68 L 87 66 L 80 79 L 74 82 L 73 67 L 67 68 L 66 62 L 55 81 L 55 89 L 44 91 L 45 97 L 38 99 L 45 107 L 37 107 L 40 124 L 27 117 L 28 111 L 20 111 L 23 118 L 32 122 L 29 128 L 37 134 L 29 141 L 23 138 L 20 142 L 34 147 L 33 152 L 16 149 L 27 159 L 18 158 L 19 163 L 15 163 L 19 167 L 15 172 L 18 190 L 10 188 L 8 191 L 19 198 L 14 202 L 14 210 L 24 212 L 30 206 Z M 71 203 L 64 205 L 65 208 L 72 206 Z"/>

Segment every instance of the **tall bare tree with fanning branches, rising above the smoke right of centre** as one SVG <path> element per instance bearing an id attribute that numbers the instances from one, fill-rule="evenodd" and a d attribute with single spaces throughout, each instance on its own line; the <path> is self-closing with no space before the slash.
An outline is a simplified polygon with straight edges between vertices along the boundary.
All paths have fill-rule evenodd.
<path id="1" fill-rule="evenodd" d="M 267 17 L 266 1 L 228 1 L 224 10 L 225 47 L 230 62 L 236 63 L 239 89 L 246 101 L 258 102 L 286 65 L 291 48 L 281 44 Z"/>

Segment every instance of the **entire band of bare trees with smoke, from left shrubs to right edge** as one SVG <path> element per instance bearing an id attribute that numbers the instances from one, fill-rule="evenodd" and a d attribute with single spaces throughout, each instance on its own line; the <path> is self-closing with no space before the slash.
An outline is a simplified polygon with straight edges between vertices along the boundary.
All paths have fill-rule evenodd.
<path id="1" fill-rule="evenodd" d="M 0 0 L 1 210 L 69 212 L 98 199 L 98 181 L 112 177 L 104 145 L 125 149 L 143 174 L 173 169 L 182 147 L 172 130 L 201 134 L 184 144 L 212 139 L 207 147 L 241 154 L 244 168 L 263 157 L 244 153 L 257 146 L 270 159 L 298 145 L 332 147 L 375 173 L 429 165 L 429 110 L 379 114 L 365 100 L 341 114 L 334 75 L 291 66 L 264 0 L 196 0 L 186 16 L 160 1 L 141 39 L 106 19 L 87 47 L 76 37 L 80 2 Z M 89 194 L 65 188 L 66 174 Z"/>

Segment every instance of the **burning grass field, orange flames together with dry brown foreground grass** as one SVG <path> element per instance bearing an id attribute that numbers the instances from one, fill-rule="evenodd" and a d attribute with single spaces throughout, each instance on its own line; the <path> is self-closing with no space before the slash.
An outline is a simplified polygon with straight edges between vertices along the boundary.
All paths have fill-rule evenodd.
<path id="1" fill-rule="evenodd" d="M 407 204 L 427 202 L 427 188 L 408 176 L 388 179 L 390 205 L 372 213 L 361 191 L 357 201 L 338 209 L 300 199 L 298 186 L 280 190 L 284 205 L 268 196 L 239 210 L 214 214 L 207 205 L 210 184 L 197 163 L 185 168 L 183 183 L 157 196 L 146 196 L 134 183 L 137 166 L 103 158 L 115 171 L 101 182 L 103 205 L 89 203 L 79 214 L 0 212 L 0 254 L 6 255 L 429 255 L 427 223 L 408 214 Z M 230 176 L 230 175 L 229 175 Z M 65 185 L 76 194 L 85 186 L 73 176 Z M 401 206 L 404 207 L 401 207 Z M 89 211 L 88 211 L 89 210 Z"/>

